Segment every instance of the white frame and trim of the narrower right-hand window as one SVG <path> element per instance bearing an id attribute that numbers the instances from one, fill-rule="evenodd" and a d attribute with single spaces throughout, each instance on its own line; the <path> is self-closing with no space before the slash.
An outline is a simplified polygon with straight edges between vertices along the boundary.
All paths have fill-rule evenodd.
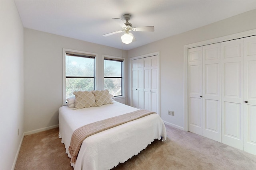
<path id="1" fill-rule="evenodd" d="M 110 56 L 110 55 L 102 55 L 102 86 L 104 89 L 104 79 L 105 78 L 120 78 L 120 77 L 105 77 L 104 76 L 104 60 L 105 59 L 108 59 L 108 60 L 112 60 L 112 61 L 120 61 L 122 63 L 122 72 L 121 72 L 121 96 L 115 96 L 116 99 L 118 98 L 124 98 L 125 97 L 125 87 L 124 87 L 124 84 L 125 84 L 125 59 L 122 58 L 122 57 L 116 57 L 116 56 Z"/>

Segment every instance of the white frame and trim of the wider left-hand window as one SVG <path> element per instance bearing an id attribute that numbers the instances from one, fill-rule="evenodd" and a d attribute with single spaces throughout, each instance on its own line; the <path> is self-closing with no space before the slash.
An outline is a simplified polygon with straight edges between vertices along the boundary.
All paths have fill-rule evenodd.
<path id="1" fill-rule="evenodd" d="M 97 79 L 97 54 L 96 53 L 90 53 L 86 51 L 78 51 L 78 50 L 72 50 L 72 49 L 65 49 L 62 50 L 62 105 L 66 105 L 66 78 L 87 78 L 87 77 L 80 77 L 80 76 L 66 76 L 66 51 L 72 52 L 72 53 L 82 53 L 84 55 L 92 55 L 95 56 L 94 58 L 94 90 L 96 87 L 96 79 Z M 92 77 L 90 77 L 92 78 Z"/>

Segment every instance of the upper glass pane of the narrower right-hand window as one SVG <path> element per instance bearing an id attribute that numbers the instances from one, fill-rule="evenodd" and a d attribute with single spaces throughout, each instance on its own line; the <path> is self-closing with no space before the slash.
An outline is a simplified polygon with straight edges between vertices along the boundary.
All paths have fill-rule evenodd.
<path id="1" fill-rule="evenodd" d="M 104 60 L 104 77 L 122 77 L 122 62 Z"/>

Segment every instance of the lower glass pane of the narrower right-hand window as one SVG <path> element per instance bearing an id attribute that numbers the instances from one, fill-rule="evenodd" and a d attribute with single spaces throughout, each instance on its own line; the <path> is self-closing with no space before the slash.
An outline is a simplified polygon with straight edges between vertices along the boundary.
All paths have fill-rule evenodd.
<path id="1" fill-rule="evenodd" d="M 104 89 L 108 89 L 113 96 L 122 96 L 122 78 L 104 78 Z"/>

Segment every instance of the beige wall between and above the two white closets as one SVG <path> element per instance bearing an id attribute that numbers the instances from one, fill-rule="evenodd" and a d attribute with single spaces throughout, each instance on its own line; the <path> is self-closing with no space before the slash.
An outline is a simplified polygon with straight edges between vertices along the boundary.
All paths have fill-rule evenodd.
<path id="1" fill-rule="evenodd" d="M 160 51 L 160 115 L 164 121 L 184 128 L 184 45 L 256 29 L 255 16 L 256 10 L 252 10 L 128 51 L 130 58 Z M 130 91 L 128 94 L 129 101 Z"/>

